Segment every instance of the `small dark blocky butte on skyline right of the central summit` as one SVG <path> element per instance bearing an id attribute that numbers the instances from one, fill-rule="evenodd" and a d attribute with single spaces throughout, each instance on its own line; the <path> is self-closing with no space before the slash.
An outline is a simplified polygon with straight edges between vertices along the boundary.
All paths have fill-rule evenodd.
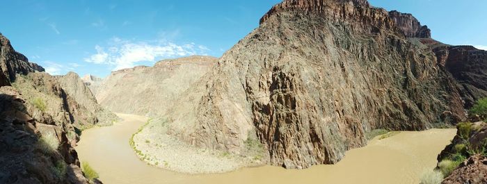
<path id="1" fill-rule="evenodd" d="M 406 37 L 431 38 L 431 30 L 409 13 L 402 13 L 396 10 L 389 12 L 389 17 L 394 20 L 396 26 L 401 28 Z"/>

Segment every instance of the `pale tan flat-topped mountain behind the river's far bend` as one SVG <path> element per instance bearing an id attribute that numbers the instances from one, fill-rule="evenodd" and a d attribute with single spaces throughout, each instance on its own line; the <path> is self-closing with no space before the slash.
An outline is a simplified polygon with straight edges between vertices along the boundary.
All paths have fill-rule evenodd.
<path id="1" fill-rule="evenodd" d="M 122 69 L 105 78 L 95 94 L 99 103 L 113 112 L 163 115 L 179 94 L 215 64 L 216 58 L 191 56 L 162 60 L 153 67 Z"/>

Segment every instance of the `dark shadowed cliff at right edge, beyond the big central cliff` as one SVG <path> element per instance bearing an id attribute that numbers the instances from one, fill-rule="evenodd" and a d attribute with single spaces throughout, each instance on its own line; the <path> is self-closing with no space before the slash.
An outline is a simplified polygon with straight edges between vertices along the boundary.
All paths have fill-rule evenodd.
<path id="1" fill-rule="evenodd" d="M 472 46 L 433 47 L 440 65 L 445 66 L 458 83 L 465 108 L 487 97 L 487 51 Z"/>

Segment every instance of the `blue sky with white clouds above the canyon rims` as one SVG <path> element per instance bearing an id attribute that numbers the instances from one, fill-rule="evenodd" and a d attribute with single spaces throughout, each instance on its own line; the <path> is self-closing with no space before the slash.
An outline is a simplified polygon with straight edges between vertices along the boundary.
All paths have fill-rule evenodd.
<path id="1" fill-rule="evenodd" d="M 51 74 L 107 76 L 193 54 L 219 57 L 280 0 L 3 1 L 0 32 Z M 487 45 L 485 0 L 369 0 L 415 15 L 448 44 Z M 484 47 L 487 49 L 487 47 Z"/>

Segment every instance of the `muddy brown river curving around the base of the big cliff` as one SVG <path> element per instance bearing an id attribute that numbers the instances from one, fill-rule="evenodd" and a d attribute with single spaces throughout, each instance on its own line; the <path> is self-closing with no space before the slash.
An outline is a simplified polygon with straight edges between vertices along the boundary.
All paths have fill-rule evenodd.
<path id="1" fill-rule="evenodd" d="M 455 129 L 401 132 L 367 147 L 346 152 L 336 165 L 287 170 L 255 167 L 225 174 L 189 175 L 152 167 L 138 159 L 129 138 L 145 117 L 121 115 L 113 126 L 83 131 L 76 147 L 81 162 L 89 162 L 106 184 L 124 183 L 420 183 L 425 169 L 436 166 L 436 156 L 453 139 Z"/>

